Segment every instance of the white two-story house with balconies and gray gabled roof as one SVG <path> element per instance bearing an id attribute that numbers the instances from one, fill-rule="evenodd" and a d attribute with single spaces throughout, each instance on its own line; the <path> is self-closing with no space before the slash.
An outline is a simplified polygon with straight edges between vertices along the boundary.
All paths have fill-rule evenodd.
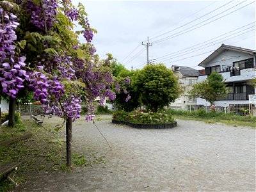
<path id="1" fill-rule="evenodd" d="M 228 107 L 236 113 L 239 113 L 241 108 L 249 108 L 248 95 L 256 92 L 256 88 L 250 83 L 250 80 L 256 77 L 255 56 L 255 50 L 222 44 L 199 63 L 199 66 L 205 68 L 205 76 L 198 77 L 198 82 L 215 71 L 225 79 L 228 94 L 219 98 L 215 102 L 216 106 Z M 209 106 L 209 102 L 200 98 L 197 104 Z"/>

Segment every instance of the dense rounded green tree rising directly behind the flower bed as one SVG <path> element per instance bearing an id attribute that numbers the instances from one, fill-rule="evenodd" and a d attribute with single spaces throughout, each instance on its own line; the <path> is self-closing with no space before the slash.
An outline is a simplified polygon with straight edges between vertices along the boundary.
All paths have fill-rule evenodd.
<path id="1" fill-rule="evenodd" d="M 140 95 L 140 102 L 156 112 L 177 99 L 181 93 L 177 77 L 163 64 L 147 65 L 140 70 L 132 87 Z"/>

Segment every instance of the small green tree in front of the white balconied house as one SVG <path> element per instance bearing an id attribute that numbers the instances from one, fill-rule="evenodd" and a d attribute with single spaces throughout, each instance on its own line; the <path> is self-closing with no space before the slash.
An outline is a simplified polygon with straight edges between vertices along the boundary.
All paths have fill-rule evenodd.
<path id="1" fill-rule="evenodd" d="M 227 94 L 228 90 L 224 82 L 221 74 L 212 72 L 204 81 L 193 84 L 188 93 L 191 97 L 200 97 L 212 105 L 219 97 Z"/>

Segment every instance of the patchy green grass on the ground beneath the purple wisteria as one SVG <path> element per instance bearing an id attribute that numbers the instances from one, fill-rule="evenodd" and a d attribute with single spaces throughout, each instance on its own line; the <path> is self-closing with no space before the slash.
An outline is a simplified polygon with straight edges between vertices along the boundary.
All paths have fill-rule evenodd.
<path id="1" fill-rule="evenodd" d="M 45 120 L 46 121 L 46 120 Z M 50 121 L 50 120 L 49 120 Z M 18 126 L 19 125 L 19 126 Z M 66 166 L 66 151 L 65 142 L 52 140 L 60 139 L 60 132 L 63 132 L 65 127 L 61 128 L 59 133 L 53 134 L 56 124 L 44 122 L 44 127 L 36 124 L 33 120 L 22 120 L 20 124 L 15 125 L 17 129 L 20 127 L 28 127 L 32 132 L 32 138 L 21 140 L 12 143 L 5 147 L 0 147 L 0 163 L 21 163 L 18 170 L 12 172 L 12 177 L 15 182 L 21 184 L 26 182 L 28 177 L 38 177 L 39 172 L 68 172 L 70 168 Z M 6 127 L 8 128 L 8 127 Z M 15 128 L 13 127 L 13 132 Z M 8 136 L 6 132 L 2 132 L 1 136 Z M 65 133 L 64 133 L 65 134 Z M 72 167 L 90 166 L 96 163 L 104 163 L 104 157 L 97 157 L 92 152 L 79 155 L 73 154 Z M 1 178 L 0 178 L 1 180 Z M 13 185 L 8 180 L 0 181 L 0 192 L 10 191 Z"/>

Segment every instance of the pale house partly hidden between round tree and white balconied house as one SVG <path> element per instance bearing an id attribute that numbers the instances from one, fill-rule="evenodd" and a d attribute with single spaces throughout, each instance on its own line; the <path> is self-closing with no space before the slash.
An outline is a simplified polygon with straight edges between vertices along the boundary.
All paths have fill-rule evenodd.
<path id="1" fill-rule="evenodd" d="M 175 102 L 170 104 L 170 106 L 173 108 L 188 109 L 189 106 L 196 105 L 196 98 L 189 97 L 188 91 L 191 90 L 192 84 L 197 82 L 198 76 L 202 75 L 202 71 L 200 72 L 191 67 L 178 65 L 173 65 L 171 69 L 175 76 L 179 78 L 179 84 L 182 86 L 184 93 L 182 93 L 182 95 L 176 99 Z"/>

